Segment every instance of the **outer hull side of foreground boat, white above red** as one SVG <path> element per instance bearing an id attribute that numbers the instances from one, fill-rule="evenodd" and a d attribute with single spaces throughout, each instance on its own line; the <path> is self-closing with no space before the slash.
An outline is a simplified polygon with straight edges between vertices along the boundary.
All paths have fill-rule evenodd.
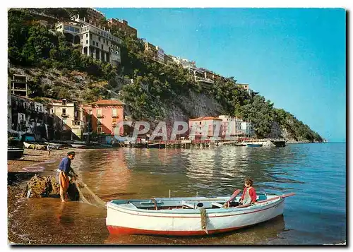
<path id="1" fill-rule="evenodd" d="M 271 220 L 283 214 L 284 199 L 256 208 L 207 209 L 206 229 L 196 210 L 138 211 L 107 204 L 107 229 L 110 234 L 152 234 L 201 236 L 230 232 Z"/>

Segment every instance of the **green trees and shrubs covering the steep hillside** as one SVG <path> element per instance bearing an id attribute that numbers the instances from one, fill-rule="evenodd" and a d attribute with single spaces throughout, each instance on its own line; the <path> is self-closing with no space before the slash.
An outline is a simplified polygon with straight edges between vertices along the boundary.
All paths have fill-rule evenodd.
<path id="1" fill-rule="evenodd" d="M 35 11 L 59 20 L 68 20 L 76 13 L 83 16 L 86 8 L 43 8 Z M 123 39 L 122 63 L 115 68 L 81 54 L 79 49 L 66 41 L 64 35 L 48 30 L 35 19 L 35 15 L 29 11 L 8 11 L 8 59 L 11 64 L 41 68 L 43 72 L 56 68 L 63 75 L 81 71 L 88 73 L 97 83 L 109 83 L 104 87 L 86 85 L 83 95 L 86 102 L 109 97 L 107 88 L 114 89 L 115 77 L 124 76 L 124 80 L 133 80 L 133 83 L 123 85 L 121 90 L 121 99 L 128 104 L 133 119 L 165 119 L 166 110 L 171 109 L 172 105 L 179 107 L 186 116 L 191 116 L 186 104 L 181 102 L 181 97 L 188 98 L 191 92 L 203 92 L 222 106 L 222 114 L 251 120 L 259 138 L 268 136 L 277 122 L 295 140 L 323 140 L 289 112 L 273 107 L 270 100 L 266 101 L 261 95 L 251 97 L 246 90 L 237 88 L 234 78 L 216 80 L 212 88 L 205 89 L 181 66 L 160 64 L 150 59 L 144 52 L 142 40 L 128 37 L 118 30 L 112 30 L 112 33 Z M 105 19 L 100 20 L 101 25 L 106 23 Z M 50 87 L 41 82 L 41 76 L 37 76 L 31 84 L 34 96 L 70 99 L 69 87 L 60 83 L 56 83 L 51 92 L 47 92 Z"/>

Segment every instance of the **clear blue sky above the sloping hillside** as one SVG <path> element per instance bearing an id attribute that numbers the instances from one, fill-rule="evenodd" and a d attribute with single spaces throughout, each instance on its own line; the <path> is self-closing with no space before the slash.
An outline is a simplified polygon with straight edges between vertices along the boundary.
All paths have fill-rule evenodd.
<path id="1" fill-rule="evenodd" d="M 97 9 L 167 54 L 249 83 L 324 138 L 345 141 L 344 9 Z"/>

